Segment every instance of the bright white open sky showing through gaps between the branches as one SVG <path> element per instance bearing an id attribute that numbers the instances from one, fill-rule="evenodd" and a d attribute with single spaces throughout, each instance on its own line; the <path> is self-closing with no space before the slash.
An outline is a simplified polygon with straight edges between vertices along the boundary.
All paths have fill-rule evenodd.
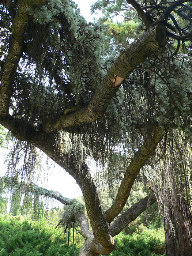
<path id="1" fill-rule="evenodd" d="M 93 21 L 93 15 L 90 14 L 91 4 L 96 0 L 74 0 L 80 8 L 80 13 L 87 22 Z M 6 165 L 4 164 L 6 151 L 0 148 L 0 176 L 3 176 L 6 171 Z M 45 171 L 45 176 L 42 177 L 42 180 L 38 182 L 37 185 L 52 189 L 54 191 L 59 191 L 63 196 L 68 198 L 75 198 L 82 195 L 82 192 L 76 184 L 73 177 L 71 177 L 65 170 L 61 169 L 58 165 L 54 163 L 50 167 L 49 174 Z M 46 168 L 46 165 L 45 165 Z"/>

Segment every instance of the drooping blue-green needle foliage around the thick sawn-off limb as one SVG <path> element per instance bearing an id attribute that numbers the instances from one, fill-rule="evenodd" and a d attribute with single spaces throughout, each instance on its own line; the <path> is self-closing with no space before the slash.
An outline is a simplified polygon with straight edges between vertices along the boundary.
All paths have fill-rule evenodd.
<path id="1" fill-rule="evenodd" d="M 73 145 L 82 141 L 86 153 L 90 154 L 91 150 L 93 157 L 103 160 L 116 143 L 133 143 L 133 151 L 140 146 L 146 131 L 140 136 L 139 125 L 149 131 L 154 122 L 177 127 L 185 124 L 184 129 L 189 130 L 191 47 L 188 41 L 182 41 L 182 47 L 178 48 L 177 41 L 179 44 L 179 36 L 184 37 L 191 31 L 190 7 L 191 3 L 186 3 L 174 9 L 175 14 L 171 14 L 169 26 L 168 21 L 166 25 L 169 33 L 175 31 L 176 38 L 167 41 L 166 50 L 151 56 L 129 76 L 102 120 L 69 129 L 72 133 L 76 129 L 81 133 L 75 135 Z M 5 38 L 11 33 L 12 24 L 10 20 L 3 25 L 4 17 L 8 17 L 6 8 L 14 17 L 17 6 L 7 1 L 1 8 L 1 34 Z M 50 0 L 40 8 L 28 10 L 31 18 L 14 80 L 10 111 L 33 124 L 37 131 L 63 112 L 67 115 L 86 106 L 119 50 L 146 29 L 126 1 L 97 1 L 93 12 L 97 8 L 105 12 L 105 16 L 95 24 L 87 24 L 79 15 L 77 5 L 70 1 Z M 161 17 L 165 9 L 166 4 L 163 6 L 161 1 L 152 10 L 147 1 L 143 5 L 151 20 Z M 189 14 L 188 20 L 185 13 Z M 122 15 L 124 21 L 113 23 L 114 14 Z M 8 44 L 1 45 L 1 51 L 3 60 Z M 184 54 L 187 54 L 186 61 L 182 61 Z M 86 131 L 89 132 L 85 134 Z"/>

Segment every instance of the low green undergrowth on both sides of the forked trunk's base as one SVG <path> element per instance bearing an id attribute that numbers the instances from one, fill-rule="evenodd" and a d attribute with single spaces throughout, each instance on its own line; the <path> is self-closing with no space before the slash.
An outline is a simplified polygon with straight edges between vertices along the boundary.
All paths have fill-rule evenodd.
<path id="1" fill-rule="evenodd" d="M 72 233 L 72 232 L 71 232 Z M 72 234 L 71 234 L 72 236 Z M 44 219 L 31 221 L 26 216 L 0 215 L 0 256 L 71 256 L 72 237 Z M 163 255 L 162 229 L 142 227 L 136 232 L 116 236 L 116 250 L 110 256 Z M 75 256 L 79 255 L 83 237 L 75 231 Z"/>

